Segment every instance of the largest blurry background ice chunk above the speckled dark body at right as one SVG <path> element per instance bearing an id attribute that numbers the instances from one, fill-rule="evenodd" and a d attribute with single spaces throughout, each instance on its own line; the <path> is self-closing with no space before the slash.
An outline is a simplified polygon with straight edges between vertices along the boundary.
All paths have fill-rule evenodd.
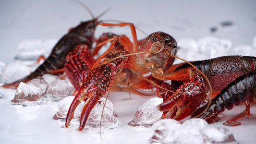
<path id="1" fill-rule="evenodd" d="M 197 42 L 200 53 L 205 53 L 208 58 L 224 56 L 230 52 L 232 42 L 229 39 L 219 39 L 216 37 L 204 37 Z M 221 51 L 221 52 L 219 52 Z"/>

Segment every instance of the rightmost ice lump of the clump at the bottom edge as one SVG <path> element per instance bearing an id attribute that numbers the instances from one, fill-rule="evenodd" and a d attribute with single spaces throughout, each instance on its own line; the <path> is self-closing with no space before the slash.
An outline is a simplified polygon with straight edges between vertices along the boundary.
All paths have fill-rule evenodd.
<path id="1" fill-rule="evenodd" d="M 208 138 L 211 144 L 238 144 L 234 136 L 226 128 L 208 127 L 201 132 Z"/>

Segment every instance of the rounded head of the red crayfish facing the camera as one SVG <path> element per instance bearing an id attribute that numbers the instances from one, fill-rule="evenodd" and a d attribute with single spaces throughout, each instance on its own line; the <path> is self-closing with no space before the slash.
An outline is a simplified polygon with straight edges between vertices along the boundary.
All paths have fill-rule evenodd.
<path id="1" fill-rule="evenodd" d="M 144 40 L 141 51 L 152 52 L 144 55 L 146 69 L 162 75 L 171 67 L 175 59 L 166 53 L 176 55 L 177 43 L 172 36 L 164 32 L 155 32 Z"/>

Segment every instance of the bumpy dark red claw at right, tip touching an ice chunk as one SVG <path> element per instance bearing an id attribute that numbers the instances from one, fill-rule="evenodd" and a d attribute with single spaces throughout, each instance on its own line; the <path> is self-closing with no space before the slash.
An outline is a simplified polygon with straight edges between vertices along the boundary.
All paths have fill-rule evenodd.
<path id="1" fill-rule="evenodd" d="M 190 77 L 190 81 L 183 83 L 166 102 L 158 105 L 160 111 L 167 111 L 165 118 L 183 120 L 199 107 L 205 97 L 205 86 L 199 73 L 192 69 L 187 71 L 194 74 Z"/>

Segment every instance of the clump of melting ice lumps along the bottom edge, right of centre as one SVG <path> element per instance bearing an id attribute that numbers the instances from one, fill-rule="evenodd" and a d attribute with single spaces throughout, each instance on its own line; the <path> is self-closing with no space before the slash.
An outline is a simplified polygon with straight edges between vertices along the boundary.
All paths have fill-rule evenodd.
<path id="1" fill-rule="evenodd" d="M 211 127 L 202 119 L 190 119 L 180 123 L 164 119 L 153 125 L 153 144 L 238 144 L 225 128 Z"/>

